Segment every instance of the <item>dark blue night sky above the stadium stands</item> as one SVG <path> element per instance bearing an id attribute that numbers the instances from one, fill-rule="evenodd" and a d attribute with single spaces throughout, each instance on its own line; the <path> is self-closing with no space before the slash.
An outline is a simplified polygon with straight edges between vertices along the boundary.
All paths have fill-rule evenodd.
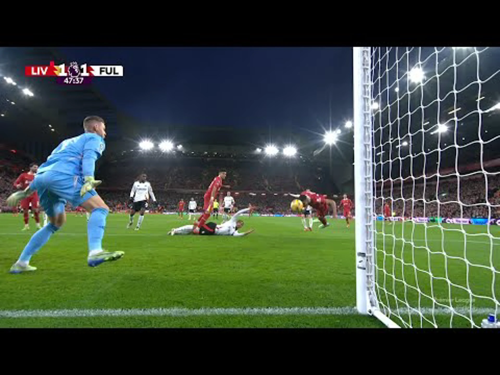
<path id="1" fill-rule="evenodd" d="M 189 126 L 302 127 L 352 117 L 347 47 L 67 47 L 67 61 L 123 65 L 92 84 L 137 120 Z"/>

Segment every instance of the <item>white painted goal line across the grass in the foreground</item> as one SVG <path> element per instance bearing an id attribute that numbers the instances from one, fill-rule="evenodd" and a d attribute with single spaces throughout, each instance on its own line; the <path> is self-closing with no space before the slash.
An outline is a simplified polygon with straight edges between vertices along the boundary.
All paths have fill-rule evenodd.
<path id="1" fill-rule="evenodd" d="M 493 309 L 494 310 L 494 309 Z M 392 313 L 394 313 L 393 311 Z M 407 315 L 408 310 L 399 309 L 399 314 Z M 420 308 L 424 315 L 450 315 L 448 308 Z M 470 309 L 455 307 L 455 312 L 470 315 Z M 491 308 L 474 307 L 473 314 L 491 313 Z M 214 316 L 214 315 L 357 315 L 355 307 L 246 307 L 246 308 L 96 308 L 59 310 L 0 310 L 0 318 L 26 317 L 95 317 L 95 316 Z M 411 315 L 418 315 L 410 310 Z"/>

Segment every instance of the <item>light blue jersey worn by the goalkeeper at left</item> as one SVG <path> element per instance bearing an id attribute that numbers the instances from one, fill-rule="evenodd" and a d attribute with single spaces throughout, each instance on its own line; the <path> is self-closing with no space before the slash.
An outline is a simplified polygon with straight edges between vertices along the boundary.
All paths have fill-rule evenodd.
<path id="1" fill-rule="evenodd" d="M 64 139 L 38 167 L 37 173 L 51 170 L 73 176 L 93 176 L 95 160 L 102 155 L 104 148 L 104 139 L 95 133 Z"/>

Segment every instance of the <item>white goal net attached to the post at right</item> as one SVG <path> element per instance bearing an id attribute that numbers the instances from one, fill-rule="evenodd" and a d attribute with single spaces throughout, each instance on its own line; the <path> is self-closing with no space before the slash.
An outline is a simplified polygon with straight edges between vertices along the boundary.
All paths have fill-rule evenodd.
<path id="1" fill-rule="evenodd" d="M 355 163 L 370 167 L 355 175 L 371 191 L 356 183 L 356 251 L 368 312 L 400 327 L 500 318 L 500 48 L 361 54 L 354 74 L 369 96 L 354 89 Z"/>

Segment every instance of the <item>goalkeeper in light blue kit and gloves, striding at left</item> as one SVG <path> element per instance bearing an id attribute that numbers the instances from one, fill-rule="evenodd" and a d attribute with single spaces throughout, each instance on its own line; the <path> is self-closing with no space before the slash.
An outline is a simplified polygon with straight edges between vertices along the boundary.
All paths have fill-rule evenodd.
<path id="1" fill-rule="evenodd" d="M 103 251 L 101 245 L 109 207 L 94 190 L 101 183 L 94 179 L 94 169 L 95 160 L 104 151 L 105 128 L 101 117 L 85 117 L 83 120 L 85 132 L 63 140 L 39 166 L 30 185 L 7 198 L 7 204 L 15 207 L 21 199 L 37 191 L 40 204 L 49 220 L 31 236 L 19 259 L 10 268 L 10 273 L 36 269 L 29 264 L 29 260 L 66 221 L 64 212 L 66 202 L 71 203 L 73 207 L 81 206 L 90 212 L 87 223 L 89 266 L 93 267 L 123 256 L 123 251 Z"/>

